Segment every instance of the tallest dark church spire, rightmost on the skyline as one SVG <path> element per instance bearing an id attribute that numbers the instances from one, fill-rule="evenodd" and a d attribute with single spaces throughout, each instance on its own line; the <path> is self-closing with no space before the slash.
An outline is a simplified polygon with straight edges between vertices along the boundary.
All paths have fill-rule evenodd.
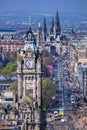
<path id="1" fill-rule="evenodd" d="M 56 37 L 61 34 L 61 28 L 60 28 L 60 20 L 58 15 L 58 9 L 56 12 L 56 19 L 55 19 L 55 26 L 56 26 Z"/>

